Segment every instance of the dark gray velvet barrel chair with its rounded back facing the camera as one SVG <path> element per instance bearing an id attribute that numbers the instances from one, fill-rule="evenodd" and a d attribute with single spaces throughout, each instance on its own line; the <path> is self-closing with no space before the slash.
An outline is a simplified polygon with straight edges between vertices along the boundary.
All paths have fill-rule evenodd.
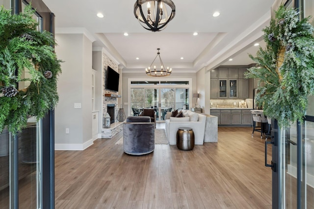
<path id="1" fill-rule="evenodd" d="M 129 116 L 123 123 L 123 150 L 130 155 L 144 155 L 155 149 L 155 123 L 149 116 Z"/>

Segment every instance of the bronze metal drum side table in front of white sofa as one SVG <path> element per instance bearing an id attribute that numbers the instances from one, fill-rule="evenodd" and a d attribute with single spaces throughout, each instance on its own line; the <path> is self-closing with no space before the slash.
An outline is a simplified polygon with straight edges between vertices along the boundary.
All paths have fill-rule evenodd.
<path id="1" fill-rule="evenodd" d="M 177 131 L 177 147 L 181 150 L 192 150 L 194 148 L 194 132 L 192 128 L 179 128 Z"/>

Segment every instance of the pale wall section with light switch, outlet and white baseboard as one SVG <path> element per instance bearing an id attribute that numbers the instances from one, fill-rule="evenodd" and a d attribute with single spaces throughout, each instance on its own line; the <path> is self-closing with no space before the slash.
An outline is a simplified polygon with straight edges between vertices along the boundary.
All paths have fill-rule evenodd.
<path id="1" fill-rule="evenodd" d="M 57 85 L 55 149 L 82 150 L 92 144 L 92 42 L 83 34 L 56 34 L 55 39 L 57 57 L 64 61 Z M 74 103 L 81 103 L 81 109 Z"/>

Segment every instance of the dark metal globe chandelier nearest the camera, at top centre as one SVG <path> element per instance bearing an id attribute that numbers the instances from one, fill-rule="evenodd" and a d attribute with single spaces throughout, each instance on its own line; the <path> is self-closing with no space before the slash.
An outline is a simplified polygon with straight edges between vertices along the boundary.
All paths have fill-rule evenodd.
<path id="1" fill-rule="evenodd" d="M 142 6 L 145 4 L 147 12 L 144 9 L 144 13 Z M 172 0 L 136 0 L 134 4 L 135 18 L 145 29 L 154 32 L 165 29 L 175 14 L 176 6 Z"/>

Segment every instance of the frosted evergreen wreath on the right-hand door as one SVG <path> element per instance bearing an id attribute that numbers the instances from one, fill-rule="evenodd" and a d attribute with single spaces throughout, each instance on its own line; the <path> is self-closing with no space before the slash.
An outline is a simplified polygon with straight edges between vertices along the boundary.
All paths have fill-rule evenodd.
<path id="1" fill-rule="evenodd" d="M 281 5 L 263 29 L 265 49 L 249 55 L 257 63 L 246 73 L 259 79 L 257 104 L 281 127 L 302 122 L 308 96 L 314 94 L 314 28 L 309 19 L 299 21 L 299 12 Z"/>

